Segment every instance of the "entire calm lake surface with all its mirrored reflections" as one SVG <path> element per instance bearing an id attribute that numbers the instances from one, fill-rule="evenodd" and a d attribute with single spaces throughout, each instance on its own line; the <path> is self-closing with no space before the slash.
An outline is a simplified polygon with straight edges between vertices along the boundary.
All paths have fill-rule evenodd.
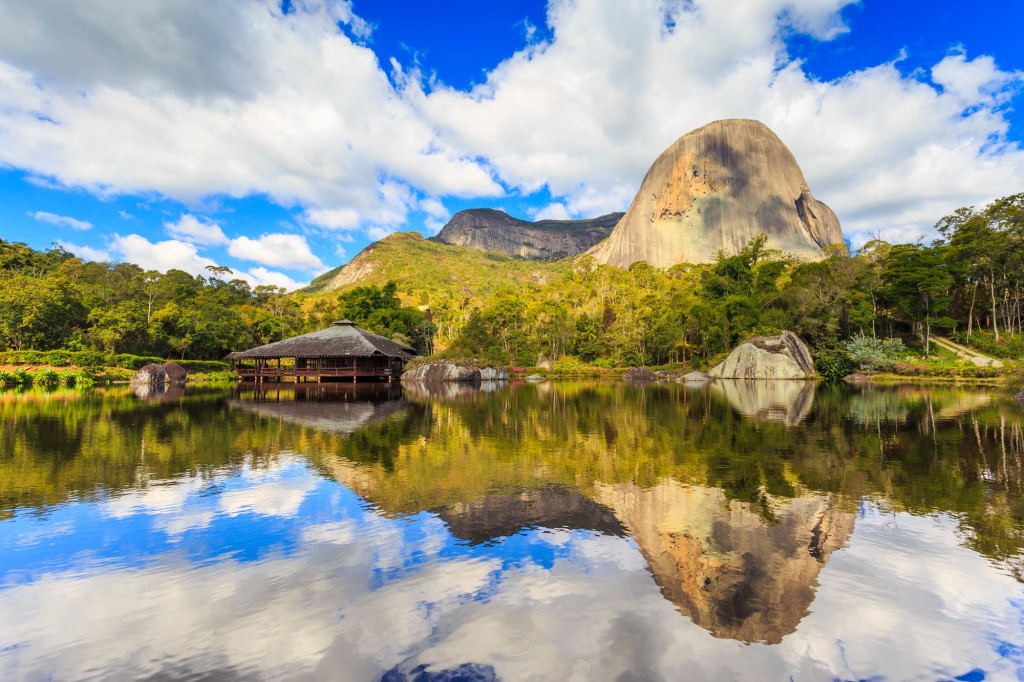
<path id="1" fill-rule="evenodd" d="M 961 389 L 0 393 L 0 679 L 1020 679 L 1022 457 Z"/>

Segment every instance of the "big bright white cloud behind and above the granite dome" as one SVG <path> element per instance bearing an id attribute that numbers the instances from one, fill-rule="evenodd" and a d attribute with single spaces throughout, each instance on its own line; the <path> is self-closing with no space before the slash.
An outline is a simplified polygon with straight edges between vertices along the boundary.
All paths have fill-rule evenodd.
<path id="1" fill-rule="evenodd" d="M 523 191 L 547 186 L 572 215 L 624 209 L 662 151 L 721 118 L 774 129 L 848 233 L 929 233 L 956 207 L 1018 190 L 1024 154 L 999 106 L 1020 75 L 957 52 L 935 83 L 897 63 L 815 80 L 781 37 L 831 38 L 847 4 L 555 0 L 549 42 L 470 92 L 414 85 L 407 96 L 450 145 Z"/>

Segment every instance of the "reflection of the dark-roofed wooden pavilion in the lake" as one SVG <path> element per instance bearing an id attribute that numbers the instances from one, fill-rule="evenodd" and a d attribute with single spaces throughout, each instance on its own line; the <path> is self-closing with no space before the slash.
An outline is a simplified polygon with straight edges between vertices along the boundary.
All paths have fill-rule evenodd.
<path id="1" fill-rule="evenodd" d="M 321 431 L 348 435 L 371 424 L 403 413 L 409 403 L 397 385 L 340 387 L 309 384 L 245 391 L 231 406 L 268 419 L 280 419 Z"/>

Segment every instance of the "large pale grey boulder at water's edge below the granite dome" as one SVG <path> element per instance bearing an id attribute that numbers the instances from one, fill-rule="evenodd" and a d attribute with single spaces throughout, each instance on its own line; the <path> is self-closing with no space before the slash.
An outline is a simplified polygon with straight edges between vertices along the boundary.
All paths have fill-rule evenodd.
<path id="1" fill-rule="evenodd" d="M 813 379 L 814 360 L 793 332 L 744 341 L 708 373 L 716 379 Z"/>

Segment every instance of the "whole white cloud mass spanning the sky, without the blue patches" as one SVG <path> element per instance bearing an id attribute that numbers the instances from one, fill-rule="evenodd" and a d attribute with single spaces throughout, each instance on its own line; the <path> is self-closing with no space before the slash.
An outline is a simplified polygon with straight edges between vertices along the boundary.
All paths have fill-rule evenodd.
<path id="1" fill-rule="evenodd" d="M 956 49 L 820 81 L 787 54 L 787 35 L 847 31 L 852 1 L 551 0 L 550 38 L 463 91 L 380 63 L 348 2 L 0 0 L 0 163 L 98 195 L 263 195 L 379 237 L 506 188 L 623 210 L 681 134 L 756 118 L 848 235 L 912 239 L 1017 191 L 1020 74 Z"/>

